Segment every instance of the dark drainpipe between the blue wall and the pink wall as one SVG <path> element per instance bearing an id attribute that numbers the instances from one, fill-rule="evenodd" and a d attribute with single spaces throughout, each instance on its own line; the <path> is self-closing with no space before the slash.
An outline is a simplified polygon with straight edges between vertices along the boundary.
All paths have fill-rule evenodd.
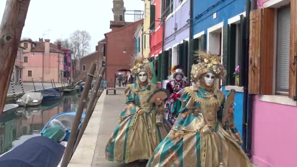
<path id="1" fill-rule="evenodd" d="M 245 19 L 245 57 L 242 61 L 244 65 L 244 87 L 243 87 L 243 117 L 242 117 L 242 148 L 247 153 L 247 126 L 248 126 L 248 107 L 249 102 L 249 43 L 250 43 L 250 10 L 251 1 L 246 0 L 246 19 Z M 250 156 L 249 156 L 250 157 Z"/>

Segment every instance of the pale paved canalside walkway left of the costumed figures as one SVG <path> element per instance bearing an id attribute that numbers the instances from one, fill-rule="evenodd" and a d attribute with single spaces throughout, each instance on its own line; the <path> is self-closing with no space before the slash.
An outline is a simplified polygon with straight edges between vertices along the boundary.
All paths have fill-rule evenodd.
<path id="1" fill-rule="evenodd" d="M 119 113 L 125 107 L 124 90 L 123 87 L 117 88 L 116 95 L 103 92 L 68 167 L 145 167 L 143 163 L 123 165 L 105 158 L 107 141 L 118 125 Z"/>

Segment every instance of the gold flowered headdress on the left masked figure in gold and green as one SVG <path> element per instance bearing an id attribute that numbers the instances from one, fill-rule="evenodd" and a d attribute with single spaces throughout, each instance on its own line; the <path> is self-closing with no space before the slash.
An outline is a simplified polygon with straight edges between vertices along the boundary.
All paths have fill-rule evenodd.
<path id="1" fill-rule="evenodd" d="M 140 72 L 146 72 L 148 74 L 148 79 L 152 78 L 152 71 L 149 66 L 149 60 L 142 56 L 133 56 L 133 63 L 131 64 L 130 70 L 135 76 L 137 76 Z"/>

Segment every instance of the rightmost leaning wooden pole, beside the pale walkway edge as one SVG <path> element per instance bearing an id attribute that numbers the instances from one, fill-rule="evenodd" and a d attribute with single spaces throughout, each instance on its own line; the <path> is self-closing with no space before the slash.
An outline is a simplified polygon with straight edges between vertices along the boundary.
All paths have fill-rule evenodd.
<path id="1" fill-rule="evenodd" d="M 93 88 L 93 93 L 91 95 L 89 104 L 88 104 L 87 109 L 85 111 L 85 120 L 83 122 L 83 125 L 82 125 L 80 131 L 79 131 L 79 134 L 78 134 L 77 140 L 75 142 L 75 145 L 73 146 L 72 154 L 74 153 L 74 151 L 76 150 L 76 147 L 80 143 L 80 141 L 82 139 L 82 136 L 83 136 L 83 134 L 85 132 L 85 128 L 86 128 L 89 120 L 91 119 L 91 116 L 92 116 L 93 111 L 95 109 L 94 106 L 96 105 L 96 102 L 98 101 L 98 98 L 97 98 L 98 90 L 101 88 L 102 78 L 103 78 L 104 72 L 105 72 L 105 67 L 102 67 L 101 68 L 101 73 L 100 73 L 99 77 L 97 78 L 97 82 L 95 84 L 95 87 Z M 97 101 L 96 101 L 96 99 L 97 99 Z"/>

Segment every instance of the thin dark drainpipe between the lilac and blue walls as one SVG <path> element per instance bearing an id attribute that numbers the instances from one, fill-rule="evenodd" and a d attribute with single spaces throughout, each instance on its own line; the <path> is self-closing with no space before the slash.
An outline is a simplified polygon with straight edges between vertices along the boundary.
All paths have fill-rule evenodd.
<path id="1" fill-rule="evenodd" d="M 188 46 L 188 83 L 191 83 L 191 65 L 192 65 L 192 55 L 193 55 L 193 0 L 190 0 L 190 29 L 189 29 L 189 46 Z"/>

